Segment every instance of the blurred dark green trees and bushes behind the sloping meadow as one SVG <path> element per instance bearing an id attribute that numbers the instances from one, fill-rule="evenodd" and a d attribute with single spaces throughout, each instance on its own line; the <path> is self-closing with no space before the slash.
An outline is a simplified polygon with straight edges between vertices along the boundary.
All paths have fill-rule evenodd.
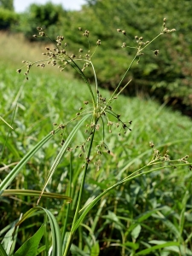
<path id="1" fill-rule="evenodd" d="M 154 37 L 160 30 L 162 17 L 166 17 L 169 26 L 177 33 L 169 34 L 168 39 L 160 38 L 141 57 L 140 64 L 135 64 L 125 79 L 125 94 L 136 96 L 142 93 L 172 104 L 183 113 L 191 116 L 191 3 L 188 0 L 171 2 L 166 0 L 125 1 L 105 0 L 87 1 L 89 5 L 79 12 L 67 12 L 61 6 L 46 3 L 32 4 L 26 13 L 20 15 L 14 31 L 23 32 L 26 38 L 32 40 L 32 34 L 37 26 L 46 28 L 50 38 L 63 35 L 71 49 L 85 47 L 79 37 L 77 26 L 91 32 L 90 45 L 96 40 L 102 40 L 102 49 L 95 55 L 97 80 L 100 86 L 113 90 L 119 79 L 125 73 L 127 63 L 135 54 L 134 49 L 120 49 L 122 43 L 135 46 L 135 36 L 143 37 L 145 41 Z M 50 11 L 51 10 L 51 11 Z M 1 18 L 0 18 L 1 19 Z M 116 29 L 126 31 L 126 36 Z M 159 55 L 154 50 L 160 49 Z M 76 73 L 75 73 L 76 74 Z M 87 70 L 87 78 L 92 82 L 94 77 Z"/>

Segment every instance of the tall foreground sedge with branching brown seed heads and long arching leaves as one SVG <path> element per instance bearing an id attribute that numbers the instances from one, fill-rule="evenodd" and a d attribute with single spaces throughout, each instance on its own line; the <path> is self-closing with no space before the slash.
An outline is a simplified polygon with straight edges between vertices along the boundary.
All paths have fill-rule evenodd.
<path id="1" fill-rule="evenodd" d="M 38 35 L 33 35 L 34 38 L 38 37 L 47 37 L 42 27 L 38 27 Z M 118 96 L 125 90 L 125 87 L 131 83 L 131 80 L 124 84 L 125 77 L 131 66 L 134 62 L 137 61 L 139 63 L 140 58 L 143 57 L 145 49 L 148 48 L 148 45 L 153 44 L 154 40 L 157 40 L 161 36 L 164 36 L 166 33 L 175 32 L 175 29 L 168 29 L 166 27 L 166 19 L 163 20 L 163 26 L 160 30 L 160 33 L 154 37 L 152 40 L 144 41 L 143 37 L 135 37 L 135 46 L 130 46 L 127 43 L 122 44 L 122 48 L 131 48 L 135 51 L 135 55 L 128 65 L 125 74 L 122 79 L 120 79 L 119 84 L 113 90 L 111 96 L 107 99 L 102 96 L 100 93 L 100 89 L 98 87 L 97 79 L 96 79 L 96 70 L 94 67 L 93 56 L 96 54 L 96 49 L 101 47 L 102 41 L 98 39 L 96 41 L 95 49 L 90 47 L 90 32 L 88 30 L 83 31 L 81 27 L 79 27 L 79 32 L 83 34 L 83 37 L 86 38 L 88 42 L 88 48 L 86 50 L 79 49 L 78 53 L 73 53 L 70 49 L 67 49 L 67 42 L 65 42 L 65 38 L 63 36 L 58 36 L 55 41 L 49 38 L 53 47 L 45 47 L 44 60 L 40 61 L 23 61 L 23 67 L 17 70 L 18 73 L 22 73 L 23 69 L 26 68 L 25 76 L 26 79 L 29 79 L 29 73 L 32 67 L 40 67 L 44 68 L 47 65 L 52 65 L 58 67 L 61 72 L 64 71 L 68 67 L 72 67 L 79 76 L 84 80 L 84 84 L 87 86 L 90 91 L 91 102 L 84 100 L 84 104 L 81 108 L 79 108 L 79 112 L 74 113 L 72 119 L 67 120 L 63 124 L 54 124 L 53 131 L 50 131 L 49 134 L 44 137 L 30 152 L 28 152 L 22 160 L 15 166 L 15 168 L 9 172 L 7 177 L 5 177 L 0 184 L 0 191 L 2 196 L 6 195 L 28 195 L 28 196 L 38 196 L 37 206 L 32 207 L 28 212 L 24 213 L 23 216 L 20 216 L 20 220 L 15 222 L 12 226 L 9 227 L 9 235 L 5 236 L 3 239 L 3 243 L 0 246 L 1 255 L 26 255 L 27 253 L 32 253 L 32 255 L 37 255 L 37 253 L 44 253 L 44 255 L 57 255 L 57 256 L 67 256 L 70 253 L 70 248 L 73 244 L 73 239 L 76 231 L 79 229 L 81 225 L 84 225 L 84 218 L 90 212 L 90 210 L 96 205 L 98 201 L 102 199 L 103 196 L 107 195 L 109 191 L 115 189 L 117 186 L 127 183 L 136 177 L 141 177 L 150 172 L 159 171 L 163 168 L 172 168 L 177 166 L 189 166 L 191 168 L 190 163 L 188 162 L 188 156 L 184 156 L 179 160 L 171 160 L 168 152 L 166 154 L 160 154 L 160 151 L 154 148 L 153 143 L 149 143 L 150 147 L 153 148 L 152 159 L 149 160 L 148 164 L 143 166 L 142 168 L 136 170 L 135 172 L 131 172 L 130 175 L 123 177 L 122 174 L 127 170 L 128 166 L 124 166 L 122 170 L 119 172 L 119 179 L 116 183 L 113 183 L 112 186 L 109 186 L 108 189 L 104 189 L 100 195 L 96 195 L 95 198 L 92 198 L 85 205 L 83 204 L 82 198 L 84 197 L 84 183 L 85 179 L 91 169 L 93 164 L 96 164 L 98 169 L 102 170 L 101 162 L 99 161 L 102 154 L 108 154 L 111 157 L 110 148 L 108 147 L 108 143 L 106 142 L 106 132 L 112 133 L 113 130 L 118 131 L 119 136 L 124 136 L 125 133 L 131 132 L 131 123 L 132 121 L 125 121 L 122 117 L 121 113 L 116 113 L 113 109 L 113 102 L 118 100 Z M 125 30 L 117 29 L 117 32 L 121 33 L 126 39 L 129 38 L 125 32 Z M 159 49 L 154 49 L 154 55 L 159 54 Z M 90 68 L 94 78 L 95 84 L 90 84 L 90 80 L 86 78 L 84 71 Z M 67 127 L 70 127 L 70 132 L 68 132 Z M 71 128 L 72 127 L 72 128 Z M 77 136 L 80 129 L 84 127 L 85 130 L 85 140 L 83 142 L 74 145 L 74 137 Z M 115 129 L 113 128 L 115 127 Z M 34 154 L 38 152 L 40 148 L 47 143 L 51 137 L 55 137 L 57 134 L 61 135 L 61 149 L 57 154 L 53 165 L 49 169 L 48 176 L 44 185 L 42 186 L 41 191 L 35 190 L 20 190 L 20 189 L 7 189 L 10 183 L 15 179 L 18 173 L 21 171 L 22 167 L 26 165 L 27 161 L 32 158 Z M 75 211 L 73 215 L 73 221 L 70 223 L 70 202 L 73 201 L 73 152 L 79 152 L 79 158 L 82 160 L 82 165 L 80 166 L 81 180 L 79 186 L 79 193 L 77 196 L 77 204 L 75 205 Z M 57 167 L 59 166 L 61 160 L 65 158 L 67 152 L 71 152 L 70 159 L 70 168 L 68 170 L 68 184 L 67 184 L 67 195 L 60 195 L 56 193 L 45 192 L 47 185 L 49 184 L 51 178 L 57 171 Z M 93 157 L 96 155 L 96 157 Z M 97 160 L 97 158 L 99 160 Z M 122 178 L 123 177 L 123 178 Z M 56 191 L 55 191 L 56 192 Z M 48 198 L 60 198 L 67 200 L 67 210 L 65 211 L 64 218 L 61 218 L 62 221 L 60 225 L 57 223 L 55 215 L 53 212 L 49 211 L 49 209 L 44 207 L 39 207 L 39 202 L 42 197 Z M 103 206 L 101 206 L 103 207 Z M 44 225 L 40 227 L 37 233 L 32 236 L 28 241 L 26 241 L 18 251 L 14 253 L 15 248 L 15 240 L 18 232 L 18 228 L 20 224 L 35 214 L 35 212 L 44 212 L 46 218 L 49 220 L 50 224 L 50 233 L 52 236 L 52 240 L 48 239 L 48 243 L 45 243 L 43 247 L 38 248 L 38 244 L 44 235 Z M 95 226 L 96 224 L 94 224 Z M 93 229 L 94 230 L 94 229 Z M 8 233 L 7 233 L 8 234 Z M 5 241 L 9 241 L 11 243 L 11 247 L 5 247 L 7 244 Z M 31 243 L 30 243 L 31 242 Z M 32 246 L 33 245 L 33 246 Z M 20 254 L 19 254 L 20 253 Z M 97 254 L 98 255 L 98 252 Z M 125 255 L 124 248 L 122 249 L 122 255 Z"/>

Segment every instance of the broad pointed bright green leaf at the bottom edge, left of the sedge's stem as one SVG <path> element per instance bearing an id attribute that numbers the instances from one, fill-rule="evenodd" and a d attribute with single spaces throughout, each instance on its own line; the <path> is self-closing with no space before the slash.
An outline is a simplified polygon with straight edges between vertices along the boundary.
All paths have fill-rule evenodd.
<path id="1" fill-rule="evenodd" d="M 38 250 L 38 244 L 44 235 L 44 224 L 40 227 L 40 229 L 29 238 L 24 244 L 16 251 L 14 256 L 36 256 L 36 252 Z"/>

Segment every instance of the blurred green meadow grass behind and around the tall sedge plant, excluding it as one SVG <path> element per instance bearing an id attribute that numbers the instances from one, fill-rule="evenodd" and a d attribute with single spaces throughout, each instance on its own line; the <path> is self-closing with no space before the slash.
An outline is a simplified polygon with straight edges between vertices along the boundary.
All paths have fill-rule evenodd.
<path id="1" fill-rule="evenodd" d="M 12 39 L 14 42 L 15 38 L 9 39 L 10 42 Z M 23 44 L 26 49 L 20 46 L 22 59 L 26 59 L 31 45 Z M 15 55 L 17 59 L 16 47 L 15 50 L 15 54 L 11 55 Z M 1 59 L 0 68 L 2 91 L 0 116 L 14 128 L 12 131 L 1 121 L 0 172 L 3 180 L 10 169 L 32 147 L 53 131 L 53 123 L 62 124 L 68 119 L 73 119 L 79 108 L 84 105 L 84 100 L 91 101 L 91 98 L 83 82 L 66 79 L 63 73 L 56 72 L 55 79 L 55 73 L 49 73 L 49 70 L 39 72 L 38 68 L 34 68 L 29 81 L 26 81 L 24 76 L 15 72 L 18 63 L 9 57 L 6 58 L 6 55 Z M 105 90 L 100 90 L 100 93 L 107 98 L 111 95 Z M 189 155 L 191 162 L 192 123 L 189 118 L 180 113 L 173 113 L 166 106 L 160 106 L 151 99 L 141 97 L 119 96 L 118 101 L 113 104 L 113 109 L 117 113 L 123 113 L 123 118 L 127 122 L 132 120 L 132 131 L 119 136 L 119 130 L 113 128 L 112 133 L 106 132 L 105 135 L 110 154 L 98 155 L 93 151 L 92 159 L 96 165 L 92 164 L 87 173 L 83 204 L 91 201 L 113 183 L 147 165 L 154 155 L 154 149 L 149 147 L 149 142 L 154 143 L 154 148 L 159 149 L 162 156 L 169 150 L 171 159 L 182 159 L 185 155 Z M 55 134 L 27 162 L 10 188 L 41 190 L 50 166 L 61 149 L 62 137 L 67 137 L 67 132 L 72 129 L 73 123 L 67 126 L 66 134 L 62 136 Z M 86 134 L 84 129 L 81 129 L 70 147 L 74 148 L 85 139 Z M 100 140 L 101 137 L 96 136 L 95 143 Z M 79 153 L 79 148 L 73 153 L 67 152 L 46 189 L 68 195 L 67 183 L 70 177 L 67 172 L 69 170 L 73 172 L 73 187 L 70 191 L 73 202 L 70 204 L 67 230 L 73 221 L 83 172 L 81 166 L 84 160 L 79 157 Z M 73 166 L 70 164 L 72 162 Z M 151 168 L 148 166 L 149 171 Z M 84 218 L 84 222 L 74 236 L 71 253 L 73 255 L 108 253 L 110 255 L 185 255 L 184 253 L 192 255 L 191 179 L 189 166 L 170 168 L 167 165 L 156 172 L 136 177 L 129 183 L 120 184 L 108 195 L 103 195 L 101 201 Z M 25 213 L 37 202 L 36 199 L 26 195 L 14 199 L 15 196 L 1 198 L 2 237 L 9 230 L 9 224 L 20 218 L 20 212 Z M 61 200 L 43 199 L 40 201 L 40 206 L 49 208 L 59 224 L 65 222 L 67 205 Z M 32 218 L 26 219 L 25 225 L 20 226 L 17 247 L 31 237 L 42 223 L 47 223 L 47 219 L 35 213 Z M 46 242 L 49 241 L 50 235 L 47 236 L 44 238 L 45 242 L 40 243 L 41 255 L 48 255 L 49 246 Z"/>

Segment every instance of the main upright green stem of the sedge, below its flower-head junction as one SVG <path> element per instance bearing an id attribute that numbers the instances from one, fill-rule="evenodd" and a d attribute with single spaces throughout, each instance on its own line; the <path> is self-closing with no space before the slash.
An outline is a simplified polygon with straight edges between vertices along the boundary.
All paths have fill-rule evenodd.
<path id="1" fill-rule="evenodd" d="M 73 241 L 74 232 L 75 232 L 75 230 L 73 230 L 73 227 L 74 227 L 76 221 L 79 218 L 79 209 L 80 209 L 81 199 L 82 199 L 82 195 L 83 195 L 83 191 L 84 191 L 84 181 L 85 181 L 85 177 L 86 177 L 88 166 L 89 166 L 90 152 L 91 152 L 91 148 L 92 148 L 92 144 L 93 144 L 94 135 L 95 135 L 95 128 L 93 129 L 93 133 L 91 134 L 91 137 L 90 137 L 90 145 L 89 145 L 88 153 L 87 153 L 87 156 L 86 156 L 86 163 L 84 165 L 84 173 L 83 173 L 83 178 L 82 178 L 82 181 L 81 181 L 81 186 L 80 186 L 80 191 L 79 191 L 78 204 L 77 204 L 77 207 L 76 207 L 76 210 L 75 210 L 75 214 L 74 214 L 74 218 L 73 218 L 73 224 L 72 224 L 72 227 L 71 227 L 70 234 L 68 236 L 67 245 L 66 245 L 65 251 L 63 253 L 63 256 L 67 256 L 68 253 L 69 253 L 69 250 L 70 250 L 70 247 L 71 247 L 71 244 L 72 244 L 72 241 Z"/>

